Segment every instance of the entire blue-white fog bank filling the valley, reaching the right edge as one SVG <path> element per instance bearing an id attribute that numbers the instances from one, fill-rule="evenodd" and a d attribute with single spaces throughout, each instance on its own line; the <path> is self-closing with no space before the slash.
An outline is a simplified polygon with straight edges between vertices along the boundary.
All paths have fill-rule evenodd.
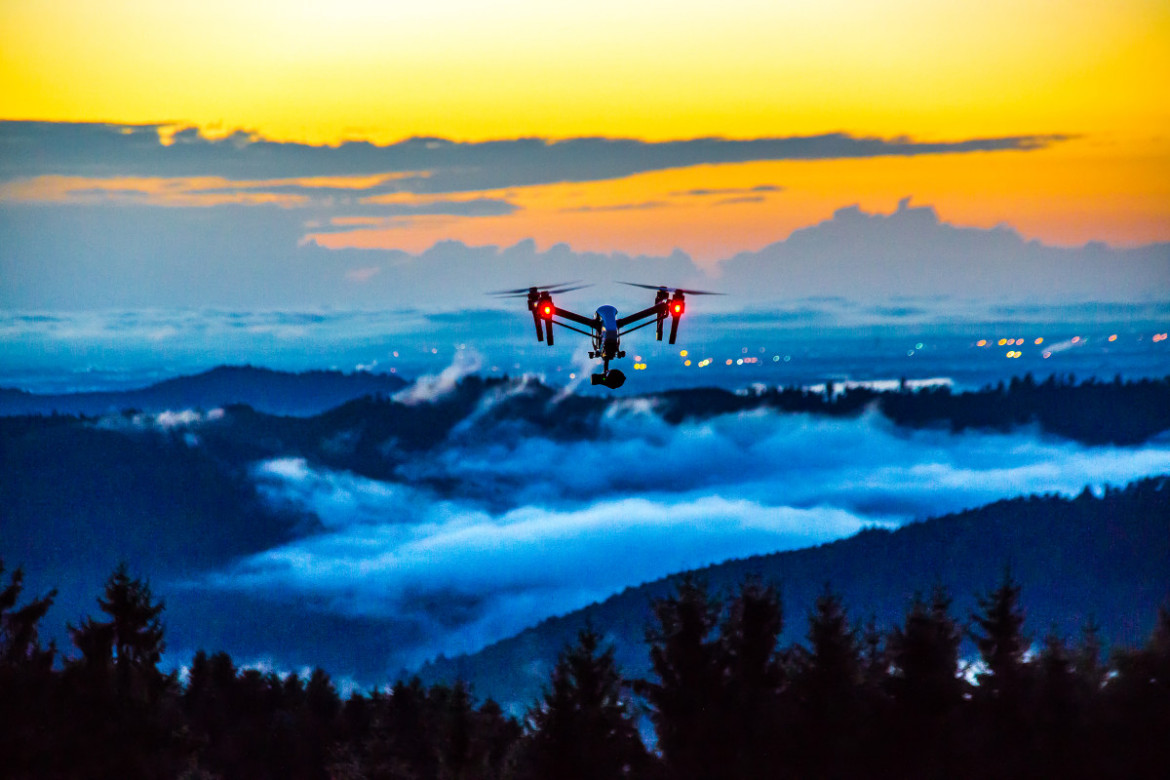
<path id="1" fill-rule="evenodd" d="M 673 426 L 645 399 L 612 405 L 585 437 L 553 440 L 494 422 L 498 400 L 415 454 L 397 482 L 300 458 L 259 464 L 262 492 L 311 510 L 325 531 L 204 585 L 390 621 L 401 627 L 387 658 L 397 668 L 684 568 L 1170 470 L 1168 441 L 1090 448 L 1028 432 L 907 432 L 874 414 Z"/>

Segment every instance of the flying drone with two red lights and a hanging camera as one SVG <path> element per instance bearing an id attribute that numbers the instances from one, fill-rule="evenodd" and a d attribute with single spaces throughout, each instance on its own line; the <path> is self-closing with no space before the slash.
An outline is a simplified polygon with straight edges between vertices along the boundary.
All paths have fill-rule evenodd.
<path id="1" fill-rule="evenodd" d="M 576 282 L 562 282 L 560 284 L 549 284 L 544 287 L 518 288 L 515 290 L 497 290 L 489 295 L 505 298 L 526 298 L 528 310 L 532 313 L 532 324 L 536 326 L 536 340 L 544 341 L 552 346 L 552 326 L 560 325 L 571 331 L 587 336 L 593 340 L 593 350 L 590 351 L 590 360 L 601 360 L 601 373 L 593 374 L 590 379 L 593 385 L 601 385 L 610 389 L 618 389 L 626 384 L 626 374 L 620 368 L 610 368 L 611 360 L 619 360 L 626 357 L 621 350 L 621 337 L 632 333 L 647 325 L 654 325 L 658 340 L 662 340 L 662 330 L 667 317 L 670 318 L 670 344 L 674 344 L 679 336 L 679 320 L 687 310 L 688 295 L 723 295 L 722 292 L 707 292 L 704 290 L 683 290 L 682 288 L 669 288 L 654 284 L 635 284 L 634 282 L 621 282 L 629 287 L 654 290 L 654 305 L 636 311 L 627 317 L 618 317 L 618 309 L 608 304 L 598 306 L 592 317 L 585 317 L 576 312 L 562 309 L 552 303 L 553 295 L 571 292 L 589 284 L 577 284 Z M 567 322 L 566 322 L 567 320 Z M 574 327 L 574 323 L 581 327 Z"/>

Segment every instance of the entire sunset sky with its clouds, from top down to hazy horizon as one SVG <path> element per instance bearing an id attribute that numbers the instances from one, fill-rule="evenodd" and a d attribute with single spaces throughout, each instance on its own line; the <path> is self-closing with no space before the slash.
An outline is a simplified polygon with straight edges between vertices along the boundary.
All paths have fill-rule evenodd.
<path id="1" fill-rule="evenodd" d="M 454 308 L 483 256 L 833 295 L 892 226 L 945 262 L 858 296 L 1165 299 L 1166 83 L 1157 0 L 7 0 L 0 308 Z"/>

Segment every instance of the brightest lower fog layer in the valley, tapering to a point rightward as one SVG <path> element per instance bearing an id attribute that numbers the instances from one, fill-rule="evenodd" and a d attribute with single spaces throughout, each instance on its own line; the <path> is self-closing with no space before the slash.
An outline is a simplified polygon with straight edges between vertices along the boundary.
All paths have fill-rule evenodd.
<path id="1" fill-rule="evenodd" d="M 269 463 L 263 471 L 282 474 L 287 495 L 323 512 L 331 530 L 255 555 L 209 584 L 411 623 L 425 639 L 398 649 L 397 661 L 408 665 L 477 649 L 605 598 L 631 577 L 641 581 L 762 548 L 806 546 L 865 525 L 841 510 L 770 509 L 718 496 L 665 503 L 621 497 L 493 513 L 303 462 Z"/>

